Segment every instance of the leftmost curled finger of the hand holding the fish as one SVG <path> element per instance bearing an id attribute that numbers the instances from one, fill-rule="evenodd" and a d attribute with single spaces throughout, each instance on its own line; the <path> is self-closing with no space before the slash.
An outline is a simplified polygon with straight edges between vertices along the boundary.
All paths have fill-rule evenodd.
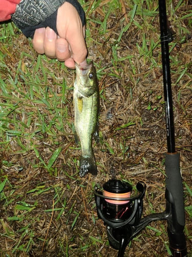
<path id="1" fill-rule="evenodd" d="M 36 52 L 43 54 L 44 51 L 44 38 L 46 28 L 39 28 L 35 30 L 34 37 L 32 40 L 33 48 Z"/>

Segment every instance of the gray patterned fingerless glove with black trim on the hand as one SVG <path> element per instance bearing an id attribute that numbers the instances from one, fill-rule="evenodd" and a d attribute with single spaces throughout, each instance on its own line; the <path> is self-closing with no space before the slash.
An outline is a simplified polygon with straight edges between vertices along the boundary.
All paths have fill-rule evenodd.
<path id="1" fill-rule="evenodd" d="M 11 20 L 27 38 L 33 38 L 35 29 L 42 27 L 50 27 L 57 33 L 57 10 L 65 2 L 76 8 L 84 26 L 85 14 L 77 0 L 22 0 Z"/>

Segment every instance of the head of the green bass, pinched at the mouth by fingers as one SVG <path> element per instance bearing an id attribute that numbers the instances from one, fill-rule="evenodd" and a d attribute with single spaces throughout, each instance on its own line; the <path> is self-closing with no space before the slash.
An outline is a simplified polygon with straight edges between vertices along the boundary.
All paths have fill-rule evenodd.
<path id="1" fill-rule="evenodd" d="M 98 89 L 97 73 L 93 62 L 84 66 L 75 64 L 75 68 L 76 79 L 74 85 L 84 97 L 92 96 Z"/>

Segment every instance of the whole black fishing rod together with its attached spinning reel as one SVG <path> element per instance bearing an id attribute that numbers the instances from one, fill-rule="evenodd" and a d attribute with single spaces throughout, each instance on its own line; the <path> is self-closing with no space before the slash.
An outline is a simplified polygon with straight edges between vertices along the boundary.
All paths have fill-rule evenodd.
<path id="1" fill-rule="evenodd" d="M 161 33 L 161 52 L 163 67 L 163 88 L 165 100 L 165 119 L 167 152 L 165 155 L 165 199 L 166 208 L 162 213 L 153 213 L 141 218 L 143 197 L 146 186 L 137 183 L 138 194 L 131 196 L 132 186 L 121 180 L 113 179 L 104 183 L 103 192 L 94 188 L 97 215 L 104 221 L 110 245 L 118 249 L 118 257 L 124 256 L 129 242 L 149 223 L 157 220 L 167 221 L 169 248 L 173 257 L 186 257 L 187 248 L 184 235 L 184 197 L 180 174 L 180 155 L 175 150 L 175 130 L 170 78 L 169 47 L 173 40 L 167 28 L 166 2 L 159 0 L 159 21 Z"/>

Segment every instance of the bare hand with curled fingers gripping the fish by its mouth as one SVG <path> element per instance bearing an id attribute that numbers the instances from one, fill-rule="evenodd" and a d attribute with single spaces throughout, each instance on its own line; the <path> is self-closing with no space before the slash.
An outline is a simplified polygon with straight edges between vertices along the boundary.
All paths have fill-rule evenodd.
<path id="1" fill-rule="evenodd" d="M 64 61 L 68 68 L 74 69 L 75 62 L 86 64 L 88 53 L 84 40 L 85 27 L 75 7 L 68 2 L 62 4 L 57 12 L 57 35 L 51 28 L 35 30 L 33 47 L 40 54 Z"/>

